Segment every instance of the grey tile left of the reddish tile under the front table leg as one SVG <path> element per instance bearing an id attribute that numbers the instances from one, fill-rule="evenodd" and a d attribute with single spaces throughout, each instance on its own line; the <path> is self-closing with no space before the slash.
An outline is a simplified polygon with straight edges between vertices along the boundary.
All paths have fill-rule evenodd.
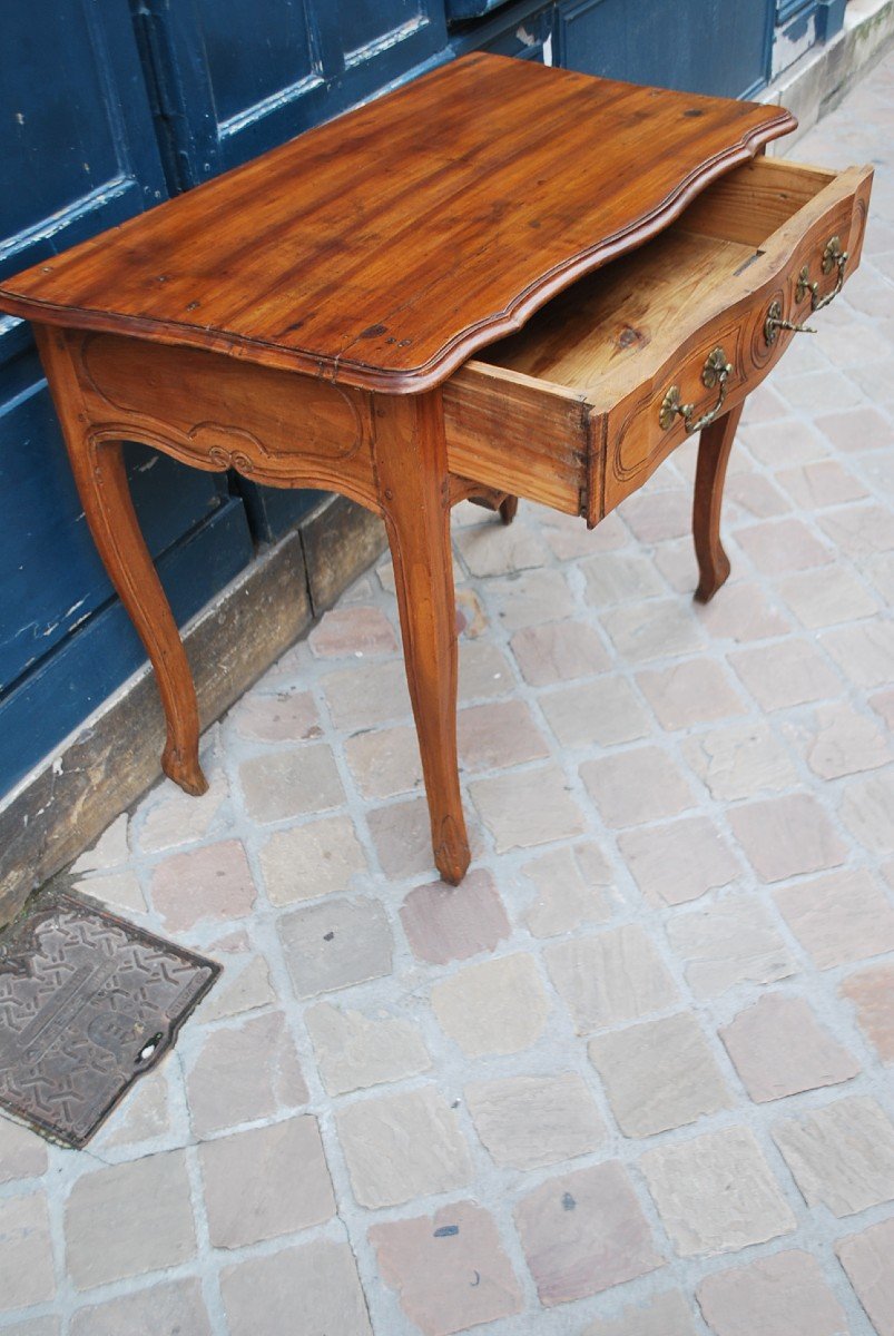
<path id="1" fill-rule="evenodd" d="M 299 998 L 347 989 L 392 973 L 392 929 L 381 900 L 330 899 L 283 915 L 277 925 Z"/>

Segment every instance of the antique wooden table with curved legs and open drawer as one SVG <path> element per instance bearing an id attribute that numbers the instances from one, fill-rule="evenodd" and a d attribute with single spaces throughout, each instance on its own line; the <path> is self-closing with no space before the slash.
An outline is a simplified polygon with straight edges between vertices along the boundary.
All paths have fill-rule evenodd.
<path id="1" fill-rule="evenodd" d="M 198 709 L 123 440 L 382 516 L 434 862 L 462 878 L 450 506 L 595 525 L 702 430 L 714 595 L 743 399 L 862 240 L 869 168 L 760 156 L 794 124 L 472 55 L 3 283 L 155 668 L 171 779 L 206 788 Z"/>

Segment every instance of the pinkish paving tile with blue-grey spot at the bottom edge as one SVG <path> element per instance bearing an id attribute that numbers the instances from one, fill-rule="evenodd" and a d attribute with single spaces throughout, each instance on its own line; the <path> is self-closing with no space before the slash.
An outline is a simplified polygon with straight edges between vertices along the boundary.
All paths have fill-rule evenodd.
<path id="1" fill-rule="evenodd" d="M 494 1218 L 474 1201 L 373 1225 L 369 1238 L 385 1284 L 424 1336 L 452 1336 L 524 1308 Z"/>

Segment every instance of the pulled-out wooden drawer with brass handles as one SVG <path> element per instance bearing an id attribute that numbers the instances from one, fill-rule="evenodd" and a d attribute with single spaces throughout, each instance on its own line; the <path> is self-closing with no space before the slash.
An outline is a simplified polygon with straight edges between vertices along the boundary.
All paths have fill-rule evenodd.
<path id="1" fill-rule="evenodd" d="M 870 167 L 758 158 L 444 386 L 450 472 L 596 524 L 764 378 L 859 262 Z M 819 317 L 822 318 L 822 317 Z"/>

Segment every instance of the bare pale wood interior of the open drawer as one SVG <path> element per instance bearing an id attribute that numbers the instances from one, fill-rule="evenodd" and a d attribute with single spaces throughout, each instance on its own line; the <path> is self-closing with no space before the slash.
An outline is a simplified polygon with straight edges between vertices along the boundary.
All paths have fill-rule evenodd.
<path id="1" fill-rule="evenodd" d="M 477 361 L 588 394 L 698 326 L 722 290 L 835 172 L 758 158 L 719 178 L 652 240 L 579 279 Z M 651 350 L 651 353 L 649 353 Z"/>

